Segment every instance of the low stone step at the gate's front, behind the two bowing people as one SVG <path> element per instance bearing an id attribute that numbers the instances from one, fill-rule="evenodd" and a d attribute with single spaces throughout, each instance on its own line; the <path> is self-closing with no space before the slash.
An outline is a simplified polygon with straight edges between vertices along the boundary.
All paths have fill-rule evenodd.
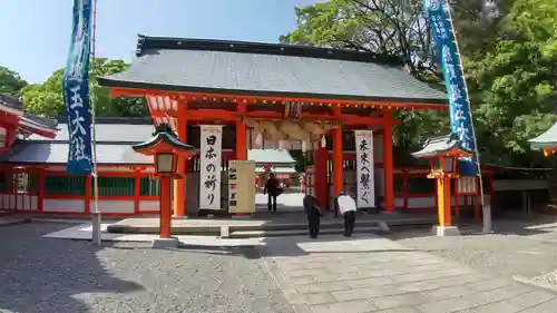
<path id="1" fill-rule="evenodd" d="M 342 235 L 344 228 L 325 228 L 320 229 L 320 235 Z M 355 234 L 384 234 L 383 228 L 375 227 L 355 227 Z M 289 237 L 289 236 L 307 236 L 307 229 L 290 229 L 290 231 L 238 231 L 231 233 L 231 238 L 260 238 L 260 237 Z"/>

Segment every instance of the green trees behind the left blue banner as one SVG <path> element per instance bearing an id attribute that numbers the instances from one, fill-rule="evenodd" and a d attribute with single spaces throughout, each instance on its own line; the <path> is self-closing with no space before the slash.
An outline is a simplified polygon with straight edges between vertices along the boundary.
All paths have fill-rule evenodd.
<path id="1" fill-rule="evenodd" d="M 97 84 L 97 76 L 120 72 L 128 68 L 123 60 L 96 58 L 90 61 L 89 80 L 95 97 L 97 116 L 145 116 L 147 106 L 140 98 L 119 97 L 110 99 L 109 89 Z M 29 85 L 22 90 L 26 109 L 46 116 L 63 116 L 66 107 L 62 97 L 63 69 L 56 70 L 43 84 Z"/>

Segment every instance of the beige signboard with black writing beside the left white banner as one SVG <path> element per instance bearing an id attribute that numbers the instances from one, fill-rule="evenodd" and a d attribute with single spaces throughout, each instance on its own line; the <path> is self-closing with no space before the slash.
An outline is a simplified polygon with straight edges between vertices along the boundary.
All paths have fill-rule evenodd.
<path id="1" fill-rule="evenodd" d="M 255 162 L 228 162 L 228 212 L 255 213 Z"/>

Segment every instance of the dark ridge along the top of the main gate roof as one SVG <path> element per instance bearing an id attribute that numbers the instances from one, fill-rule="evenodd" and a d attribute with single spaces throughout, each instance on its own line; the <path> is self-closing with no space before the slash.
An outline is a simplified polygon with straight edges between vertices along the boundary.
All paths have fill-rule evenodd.
<path id="1" fill-rule="evenodd" d="M 146 53 L 147 50 L 152 49 L 208 50 L 240 53 L 281 55 L 319 59 L 349 60 L 358 62 L 375 62 L 400 67 L 404 65 L 403 59 L 399 57 L 349 49 L 240 40 L 150 37 L 138 35 L 136 57 L 140 57 Z"/>

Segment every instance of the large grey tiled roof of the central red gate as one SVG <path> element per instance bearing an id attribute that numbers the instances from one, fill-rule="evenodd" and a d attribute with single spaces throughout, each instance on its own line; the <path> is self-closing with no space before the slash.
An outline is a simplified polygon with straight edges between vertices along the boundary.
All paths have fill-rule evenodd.
<path id="1" fill-rule="evenodd" d="M 227 95 L 446 104 L 443 92 L 368 52 L 287 45 L 139 37 L 129 69 L 99 78 L 113 87 Z"/>

